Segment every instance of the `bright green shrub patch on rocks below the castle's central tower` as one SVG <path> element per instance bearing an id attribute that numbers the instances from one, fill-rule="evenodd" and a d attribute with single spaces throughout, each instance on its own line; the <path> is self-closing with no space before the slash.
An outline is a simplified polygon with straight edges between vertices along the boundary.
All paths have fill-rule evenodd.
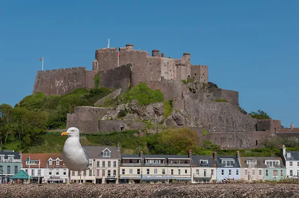
<path id="1" fill-rule="evenodd" d="M 152 90 L 147 87 L 146 83 L 139 83 L 133 89 L 123 94 L 123 103 L 127 103 L 136 99 L 140 105 L 149 105 L 154 102 L 163 102 L 164 94 L 160 90 Z"/>

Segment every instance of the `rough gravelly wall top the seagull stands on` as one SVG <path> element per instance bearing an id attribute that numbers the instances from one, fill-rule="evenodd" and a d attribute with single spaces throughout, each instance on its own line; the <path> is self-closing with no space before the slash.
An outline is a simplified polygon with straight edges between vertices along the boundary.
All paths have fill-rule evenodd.
<path id="1" fill-rule="evenodd" d="M 0 198 L 295 198 L 298 184 L 0 184 Z"/>

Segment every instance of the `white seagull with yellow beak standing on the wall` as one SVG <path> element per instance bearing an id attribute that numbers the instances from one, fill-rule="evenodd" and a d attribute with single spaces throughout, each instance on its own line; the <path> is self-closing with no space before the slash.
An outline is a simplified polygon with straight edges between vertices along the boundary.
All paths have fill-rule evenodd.
<path id="1" fill-rule="evenodd" d="M 81 146 L 79 138 L 80 132 L 76 127 L 70 127 L 66 132 L 61 134 L 62 136 L 67 136 L 68 138 L 64 143 L 63 151 L 63 161 L 65 166 L 68 168 L 68 181 L 70 181 L 70 171 L 78 171 L 80 173 L 80 182 L 81 182 L 81 171 L 88 170 L 89 168 L 89 159 L 86 153 L 86 150 Z"/>

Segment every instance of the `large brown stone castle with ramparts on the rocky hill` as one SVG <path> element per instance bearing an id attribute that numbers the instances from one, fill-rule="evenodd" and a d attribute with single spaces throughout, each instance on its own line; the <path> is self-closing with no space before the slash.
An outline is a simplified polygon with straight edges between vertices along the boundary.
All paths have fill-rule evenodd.
<path id="1" fill-rule="evenodd" d="M 173 100 L 174 112 L 164 119 L 163 113 L 157 113 L 158 107 L 152 104 L 146 111 L 142 110 L 144 115 L 150 112 L 169 126 L 188 126 L 203 140 L 211 140 L 222 148 L 258 148 L 263 140 L 279 134 L 281 129 L 280 120 L 257 120 L 242 112 L 238 92 L 209 82 L 208 66 L 193 65 L 190 53 L 172 59 L 165 58 L 164 53 L 160 55 L 159 50 L 152 50 L 149 56 L 146 51 L 134 50 L 133 44 L 96 50 L 92 70 L 79 67 L 38 71 L 33 93 L 63 95 L 75 88 L 91 88 L 96 75 L 99 75 L 100 86 L 118 89 L 118 94 L 140 82 L 161 90 L 165 99 Z M 182 80 L 196 83 L 185 84 Z M 227 102 L 217 102 L 217 99 Z M 129 118 L 108 120 L 109 111 L 108 108 L 77 107 L 73 114 L 67 115 L 67 127 L 76 126 L 85 133 L 94 133 L 144 126 Z M 208 131 L 207 135 L 202 135 L 203 129 Z"/>

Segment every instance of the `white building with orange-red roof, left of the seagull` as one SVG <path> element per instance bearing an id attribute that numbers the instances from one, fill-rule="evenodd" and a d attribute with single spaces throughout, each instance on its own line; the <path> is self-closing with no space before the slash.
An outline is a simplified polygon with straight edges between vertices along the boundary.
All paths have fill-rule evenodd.
<path id="1" fill-rule="evenodd" d="M 62 154 L 26 153 L 22 154 L 21 163 L 21 169 L 33 178 L 33 182 L 67 182 L 68 169 L 63 163 Z"/>

